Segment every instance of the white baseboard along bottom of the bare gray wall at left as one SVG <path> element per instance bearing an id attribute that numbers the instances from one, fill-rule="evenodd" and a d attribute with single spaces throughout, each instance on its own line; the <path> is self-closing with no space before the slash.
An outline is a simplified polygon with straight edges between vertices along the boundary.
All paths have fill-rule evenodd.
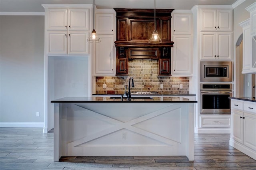
<path id="1" fill-rule="evenodd" d="M 38 127 L 43 128 L 43 122 L 0 122 L 0 127 Z"/>

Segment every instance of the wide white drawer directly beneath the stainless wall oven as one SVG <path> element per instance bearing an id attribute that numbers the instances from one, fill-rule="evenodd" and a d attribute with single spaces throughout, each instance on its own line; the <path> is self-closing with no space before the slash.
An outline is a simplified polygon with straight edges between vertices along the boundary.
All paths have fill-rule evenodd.
<path id="1" fill-rule="evenodd" d="M 201 127 L 230 127 L 230 117 L 202 117 Z"/>

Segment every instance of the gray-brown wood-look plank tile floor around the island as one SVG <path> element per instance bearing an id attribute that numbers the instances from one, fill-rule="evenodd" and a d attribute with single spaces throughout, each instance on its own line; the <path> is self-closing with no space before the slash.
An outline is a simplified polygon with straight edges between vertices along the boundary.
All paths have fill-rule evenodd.
<path id="1" fill-rule="evenodd" d="M 256 170 L 256 160 L 229 145 L 230 134 L 194 134 L 186 156 L 63 157 L 53 161 L 53 133 L 0 128 L 0 170 Z"/>

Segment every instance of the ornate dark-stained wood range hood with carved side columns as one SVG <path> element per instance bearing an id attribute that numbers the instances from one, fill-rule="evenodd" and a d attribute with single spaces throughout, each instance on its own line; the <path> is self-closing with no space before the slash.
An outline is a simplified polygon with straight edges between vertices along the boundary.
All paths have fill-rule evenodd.
<path id="1" fill-rule="evenodd" d="M 159 76 L 171 76 L 171 12 L 156 9 L 156 30 L 162 43 L 148 40 L 155 29 L 154 9 L 124 9 L 116 11 L 116 76 L 128 75 L 128 60 L 158 59 Z"/>

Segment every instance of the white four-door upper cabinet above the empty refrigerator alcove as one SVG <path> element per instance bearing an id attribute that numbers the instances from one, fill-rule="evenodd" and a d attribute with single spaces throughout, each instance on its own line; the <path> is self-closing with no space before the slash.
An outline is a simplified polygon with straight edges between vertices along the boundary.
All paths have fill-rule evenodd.
<path id="1" fill-rule="evenodd" d="M 54 56 L 89 54 L 90 9 L 88 4 L 43 4 L 46 53 Z"/>

